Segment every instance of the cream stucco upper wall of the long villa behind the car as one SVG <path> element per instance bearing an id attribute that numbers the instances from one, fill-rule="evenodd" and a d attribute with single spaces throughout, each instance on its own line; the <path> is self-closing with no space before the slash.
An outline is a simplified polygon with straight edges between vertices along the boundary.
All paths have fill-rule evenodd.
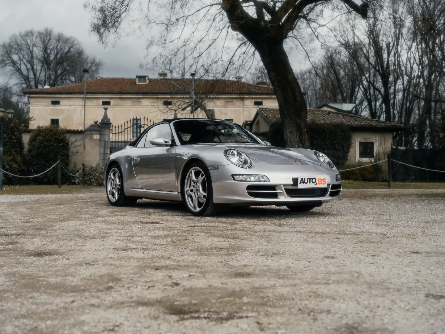
<path id="1" fill-rule="evenodd" d="M 30 128 L 34 129 L 39 125 L 48 125 L 51 118 L 58 118 L 60 126 L 67 129 L 83 129 L 83 96 L 31 95 L 29 98 L 29 113 L 34 118 L 30 122 Z M 172 118 L 174 111 L 163 106 L 163 101 L 172 101 L 173 106 L 175 106 L 178 101 L 184 99 L 187 100 L 182 96 L 87 95 L 85 125 L 89 126 L 93 121 L 101 119 L 104 112 L 102 101 L 111 102 L 108 109 L 109 118 L 113 125 L 119 125 L 136 117 L 143 118 L 145 116 L 153 122 L 162 121 L 163 118 Z M 60 105 L 51 105 L 52 100 L 60 101 Z M 256 110 L 258 110 L 259 106 L 254 105 L 255 101 L 262 101 L 264 107 L 278 106 L 278 102 L 273 95 L 227 95 L 213 98 L 206 102 L 206 106 L 215 110 L 216 118 L 233 119 L 235 123 L 241 125 L 244 121 L 251 120 Z M 179 117 L 191 117 L 191 115 L 188 112 L 183 112 Z M 195 117 L 205 116 L 202 112 L 197 112 Z"/>

